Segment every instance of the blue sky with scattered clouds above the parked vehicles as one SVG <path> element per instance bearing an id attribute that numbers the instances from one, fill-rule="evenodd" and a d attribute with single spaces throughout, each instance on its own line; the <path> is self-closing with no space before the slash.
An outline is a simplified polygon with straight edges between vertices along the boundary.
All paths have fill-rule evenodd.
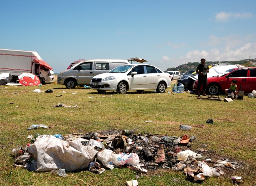
<path id="1" fill-rule="evenodd" d="M 37 51 L 55 73 L 77 59 L 253 59 L 256 0 L 0 0 L 0 48 Z"/>

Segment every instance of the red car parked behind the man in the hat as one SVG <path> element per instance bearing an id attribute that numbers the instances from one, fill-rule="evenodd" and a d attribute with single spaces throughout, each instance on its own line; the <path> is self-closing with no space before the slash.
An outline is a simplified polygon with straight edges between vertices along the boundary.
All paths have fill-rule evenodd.
<path id="1" fill-rule="evenodd" d="M 237 80 L 238 91 L 241 85 L 242 91 L 252 93 L 253 90 L 256 90 L 256 67 L 232 68 L 219 74 L 219 76 L 209 77 L 206 93 L 216 95 L 218 92 L 224 92 L 225 89 L 229 89 L 233 79 Z M 196 87 L 197 80 L 193 84 L 193 90 L 196 90 Z"/>

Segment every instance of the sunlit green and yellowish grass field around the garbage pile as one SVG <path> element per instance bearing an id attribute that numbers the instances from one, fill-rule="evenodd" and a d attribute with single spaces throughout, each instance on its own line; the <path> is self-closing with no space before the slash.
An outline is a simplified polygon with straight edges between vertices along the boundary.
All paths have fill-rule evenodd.
<path id="1" fill-rule="evenodd" d="M 38 94 L 33 92 L 35 89 L 53 89 L 53 93 Z M 66 136 L 109 129 L 167 133 L 168 136 L 196 135 L 191 150 L 207 144 L 208 158 L 218 160 L 222 157 L 239 163 L 237 170 L 223 168 L 225 175 L 206 179 L 202 183 L 190 181 L 181 171 L 149 170 L 138 178 L 139 186 L 231 185 L 231 176 L 242 176 L 243 185 L 256 185 L 256 99 L 244 96 L 243 100 L 234 102 L 200 100 L 187 92 L 167 94 L 168 90 L 171 89 L 164 94 L 129 91 L 127 95 L 116 92 L 101 95 L 92 89 L 66 89 L 55 83 L 42 87 L 0 86 L 0 185 L 125 185 L 137 174 L 128 168 L 106 170 L 100 175 L 83 170 L 68 173 L 63 178 L 50 172 L 31 172 L 13 166 L 11 150 L 17 145 L 25 147 L 30 142 L 28 135 Z M 58 103 L 77 107 L 54 108 Z M 210 118 L 213 124 L 206 123 Z M 153 122 L 144 123 L 147 120 Z M 31 124 L 54 127 L 28 130 Z M 191 131 L 179 129 L 185 124 L 192 127 Z"/>

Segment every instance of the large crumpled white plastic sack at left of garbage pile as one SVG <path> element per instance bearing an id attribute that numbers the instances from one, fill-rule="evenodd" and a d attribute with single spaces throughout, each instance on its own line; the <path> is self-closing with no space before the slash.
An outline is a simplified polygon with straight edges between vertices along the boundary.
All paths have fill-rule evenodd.
<path id="1" fill-rule="evenodd" d="M 76 138 L 67 142 L 52 135 L 41 135 L 28 148 L 34 160 L 24 167 L 40 172 L 61 168 L 70 172 L 87 168 L 98 151 L 92 146 L 82 145 L 82 141 L 88 140 Z"/>

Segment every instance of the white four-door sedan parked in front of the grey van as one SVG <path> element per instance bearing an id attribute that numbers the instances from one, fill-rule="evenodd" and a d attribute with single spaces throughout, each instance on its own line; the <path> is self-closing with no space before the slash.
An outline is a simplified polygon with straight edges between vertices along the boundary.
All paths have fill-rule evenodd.
<path id="1" fill-rule="evenodd" d="M 92 89 L 99 93 L 117 91 L 126 94 L 128 90 L 156 90 L 164 93 L 171 87 L 171 76 L 152 65 L 129 64 L 122 65 L 107 73 L 94 76 L 91 80 Z"/>

